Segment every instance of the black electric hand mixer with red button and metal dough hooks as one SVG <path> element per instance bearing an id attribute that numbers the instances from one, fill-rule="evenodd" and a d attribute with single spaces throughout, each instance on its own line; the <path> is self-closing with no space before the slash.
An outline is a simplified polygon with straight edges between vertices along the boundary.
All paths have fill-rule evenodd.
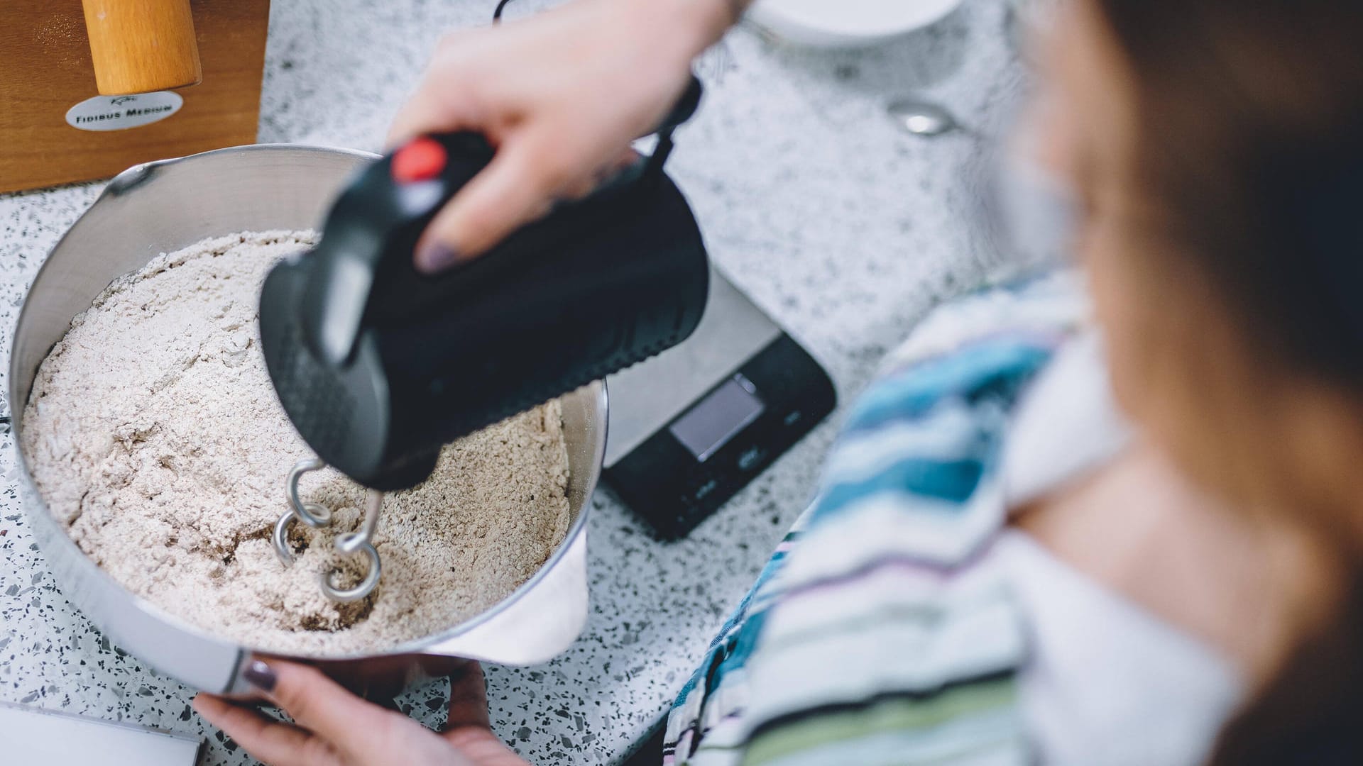
<path id="1" fill-rule="evenodd" d="M 383 492 L 414 487 L 459 436 L 671 348 L 701 322 L 709 263 L 682 192 L 662 172 L 672 129 L 701 98 L 691 79 L 653 154 L 585 199 L 450 271 L 420 274 L 417 237 L 492 159 L 476 134 L 423 136 L 364 168 L 341 192 L 311 251 L 266 277 L 260 342 L 275 393 L 316 459 L 289 473 L 289 529 L 331 522 L 298 478 L 331 465 L 368 488 L 358 532 L 335 548 L 368 559 L 365 577 L 323 592 L 356 601 L 379 583 L 373 548 Z"/>

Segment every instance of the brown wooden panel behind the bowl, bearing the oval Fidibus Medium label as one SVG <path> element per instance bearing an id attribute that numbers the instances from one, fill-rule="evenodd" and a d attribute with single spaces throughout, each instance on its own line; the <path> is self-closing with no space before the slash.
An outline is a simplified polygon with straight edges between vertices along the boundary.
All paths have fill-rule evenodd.
<path id="1" fill-rule="evenodd" d="M 192 0 L 203 79 L 173 89 L 184 101 L 168 117 L 112 131 L 67 123 L 72 106 L 99 95 L 82 1 L 3 3 L 0 192 L 108 179 L 138 162 L 255 143 L 270 0 Z M 169 112 L 173 97 L 113 101 L 87 106 L 82 124 L 124 124 L 129 109 Z M 110 114 L 120 117 L 102 123 Z"/>

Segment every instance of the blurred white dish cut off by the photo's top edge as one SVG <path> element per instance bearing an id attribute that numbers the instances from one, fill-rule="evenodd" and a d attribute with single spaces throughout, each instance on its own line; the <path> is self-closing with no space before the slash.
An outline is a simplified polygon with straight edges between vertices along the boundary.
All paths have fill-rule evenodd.
<path id="1" fill-rule="evenodd" d="M 747 18 L 789 42 L 851 46 L 925 27 L 961 0 L 758 0 Z"/>

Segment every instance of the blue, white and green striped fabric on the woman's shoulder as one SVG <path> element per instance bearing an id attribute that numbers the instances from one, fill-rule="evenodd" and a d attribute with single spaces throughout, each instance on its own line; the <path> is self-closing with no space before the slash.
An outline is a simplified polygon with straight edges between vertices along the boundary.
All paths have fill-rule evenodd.
<path id="1" fill-rule="evenodd" d="M 1005 521 L 1020 391 L 1059 335 L 994 337 L 875 383 L 819 497 L 668 720 L 665 763 L 1025 763 L 1007 583 L 972 567 Z"/>

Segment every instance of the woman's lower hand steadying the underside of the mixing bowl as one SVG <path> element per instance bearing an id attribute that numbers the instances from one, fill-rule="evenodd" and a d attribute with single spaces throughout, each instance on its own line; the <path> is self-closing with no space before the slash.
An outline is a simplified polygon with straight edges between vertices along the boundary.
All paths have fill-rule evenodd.
<path id="1" fill-rule="evenodd" d="M 294 722 L 211 694 L 195 696 L 194 709 L 270 766 L 526 766 L 488 728 L 477 662 L 450 679 L 443 733 L 365 702 L 307 665 L 255 660 L 244 676 Z"/>

